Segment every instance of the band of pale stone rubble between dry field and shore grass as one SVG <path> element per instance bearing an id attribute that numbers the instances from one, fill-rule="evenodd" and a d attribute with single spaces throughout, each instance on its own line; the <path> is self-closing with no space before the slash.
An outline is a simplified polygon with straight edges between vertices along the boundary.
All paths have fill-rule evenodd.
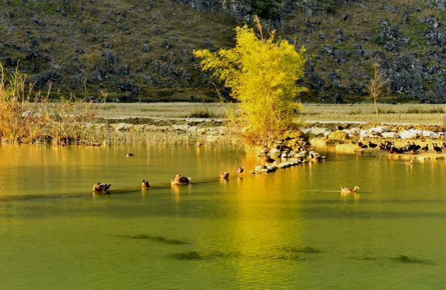
<path id="1" fill-rule="evenodd" d="M 231 135 L 222 118 L 126 117 L 98 118 L 96 121 L 98 122 L 91 125 L 101 128 L 101 130 L 114 130 L 121 133 L 157 131 L 186 135 L 189 138 L 201 138 L 204 141 L 216 141 Z M 303 121 L 298 124 L 298 127 L 308 139 L 320 137 L 338 142 L 349 139 L 376 140 L 381 138 L 440 142 L 446 138 L 445 126 L 439 125 Z"/>

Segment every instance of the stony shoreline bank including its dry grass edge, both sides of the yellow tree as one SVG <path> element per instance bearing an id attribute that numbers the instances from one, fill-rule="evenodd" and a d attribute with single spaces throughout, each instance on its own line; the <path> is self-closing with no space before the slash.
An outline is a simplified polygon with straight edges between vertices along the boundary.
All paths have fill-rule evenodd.
<path id="1" fill-rule="evenodd" d="M 45 125 L 43 125 L 44 127 Z M 437 143 L 441 146 L 446 141 L 445 126 L 402 124 L 402 123 L 367 123 L 345 121 L 302 121 L 298 124 L 303 135 L 316 147 L 346 144 L 340 150 L 357 152 L 357 148 L 347 146 L 356 140 L 392 140 L 397 147 L 408 141 L 418 145 Z M 98 140 L 92 145 L 109 144 L 194 144 L 194 143 L 235 143 L 238 135 L 226 126 L 223 118 L 172 118 L 114 116 L 95 118 L 87 123 L 86 128 Z M 361 150 L 367 153 L 369 150 Z"/>

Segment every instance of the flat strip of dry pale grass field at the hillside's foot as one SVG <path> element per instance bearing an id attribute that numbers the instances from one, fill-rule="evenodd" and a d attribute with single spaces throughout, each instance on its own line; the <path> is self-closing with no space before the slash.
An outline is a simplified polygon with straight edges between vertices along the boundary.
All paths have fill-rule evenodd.
<path id="1" fill-rule="evenodd" d="M 151 103 L 101 104 L 104 117 L 223 118 L 225 110 L 218 103 Z M 231 106 L 236 107 L 236 104 Z M 440 125 L 446 118 L 446 105 L 379 104 L 379 115 L 373 104 L 325 105 L 305 104 L 302 121 L 362 121 Z"/>

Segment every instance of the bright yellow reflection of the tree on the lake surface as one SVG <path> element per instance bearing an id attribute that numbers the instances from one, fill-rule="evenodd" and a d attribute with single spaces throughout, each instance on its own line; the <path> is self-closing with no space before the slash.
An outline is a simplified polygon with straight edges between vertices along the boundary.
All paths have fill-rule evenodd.
<path id="1" fill-rule="evenodd" d="M 250 163 L 245 160 L 245 163 Z M 273 175 L 255 175 L 252 178 L 238 178 L 221 181 L 222 186 L 230 186 L 235 197 L 233 220 L 228 224 L 230 239 L 228 247 L 237 249 L 240 258 L 229 260 L 236 271 L 236 279 L 252 289 L 265 289 L 277 281 L 277 273 L 291 276 L 291 271 L 301 267 L 282 269 L 282 262 L 299 260 L 297 256 L 287 255 L 284 248 L 299 247 L 299 239 L 289 240 L 290 232 L 299 236 L 300 224 L 284 223 L 283 202 L 289 193 L 289 184 L 280 182 L 280 172 Z M 296 176 L 299 179 L 299 177 Z M 234 185 L 232 183 L 235 182 Z M 299 215 L 299 208 L 296 208 Z M 297 235 L 296 235 L 297 233 Z M 283 245 L 281 247 L 280 245 Z M 294 260 L 296 259 L 296 260 Z"/>

